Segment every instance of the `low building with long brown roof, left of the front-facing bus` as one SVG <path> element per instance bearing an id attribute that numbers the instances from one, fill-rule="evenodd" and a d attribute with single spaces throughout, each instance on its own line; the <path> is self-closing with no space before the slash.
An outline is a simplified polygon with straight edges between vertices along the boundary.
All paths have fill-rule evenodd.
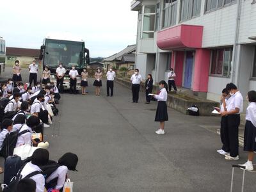
<path id="1" fill-rule="evenodd" d="M 29 65 L 33 60 L 39 61 L 40 49 L 6 47 L 6 65 L 14 65 L 19 60 L 21 65 Z"/>

